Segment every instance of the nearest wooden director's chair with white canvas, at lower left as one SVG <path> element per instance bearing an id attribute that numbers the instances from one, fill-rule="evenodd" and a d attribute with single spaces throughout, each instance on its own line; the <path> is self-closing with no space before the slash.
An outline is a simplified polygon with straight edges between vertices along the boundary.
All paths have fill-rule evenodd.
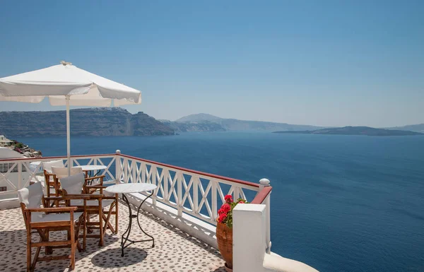
<path id="1" fill-rule="evenodd" d="M 82 251 L 86 245 L 86 227 L 83 212 L 76 211 L 76 207 L 42 208 L 41 203 L 45 201 L 42 185 L 37 182 L 28 188 L 18 191 L 20 208 L 23 213 L 27 232 L 27 271 L 34 271 L 37 261 L 52 261 L 59 259 L 71 259 L 70 268 L 75 268 L 75 250 Z M 57 199 L 56 197 L 53 197 Z M 69 197 L 67 200 L 73 199 Z M 78 200 L 86 202 L 88 196 L 80 195 Z M 78 241 L 79 231 L 83 227 L 83 247 Z M 31 235 L 36 230 L 40 235 L 39 242 L 32 242 Z M 66 230 L 68 232 L 66 240 L 52 241 L 49 239 L 49 232 Z M 34 259 L 31 260 L 31 249 L 36 247 Z M 70 255 L 44 256 L 40 257 L 40 250 L 45 247 L 45 254 L 50 255 L 53 249 L 70 247 Z"/>

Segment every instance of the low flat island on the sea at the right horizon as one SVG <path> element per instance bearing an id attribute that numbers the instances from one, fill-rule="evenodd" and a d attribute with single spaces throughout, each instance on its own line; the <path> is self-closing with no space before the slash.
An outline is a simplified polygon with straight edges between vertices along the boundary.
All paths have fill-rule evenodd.
<path id="1" fill-rule="evenodd" d="M 365 136 L 407 136 L 424 135 L 415 131 L 375 129 L 369 126 L 344 126 L 331 129 L 317 129 L 307 131 L 273 131 L 278 134 L 325 134 L 325 135 L 365 135 Z"/>

